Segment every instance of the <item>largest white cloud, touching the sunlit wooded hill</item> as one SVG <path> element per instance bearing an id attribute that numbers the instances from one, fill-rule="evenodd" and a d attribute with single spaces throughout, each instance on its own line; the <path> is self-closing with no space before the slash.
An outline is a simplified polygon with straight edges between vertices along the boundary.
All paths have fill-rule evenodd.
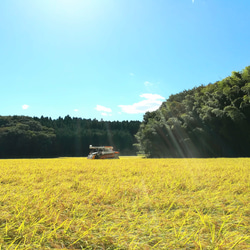
<path id="1" fill-rule="evenodd" d="M 157 94 L 142 94 L 140 97 L 145 98 L 146 100 L 132 105 L 118 105 L 118 107 L 120 107 L 124 113 L 139 114 L 157 110 L 161 106 L 163 102 L 162 100 L 165 100 L 164 97 Z"/>

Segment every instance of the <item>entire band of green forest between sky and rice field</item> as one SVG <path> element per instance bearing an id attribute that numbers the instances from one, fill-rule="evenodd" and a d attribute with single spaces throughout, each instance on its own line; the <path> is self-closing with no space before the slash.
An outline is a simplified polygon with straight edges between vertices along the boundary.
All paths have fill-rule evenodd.
<path id="1" fill-rule="evenodd" d="M 0 158 L 86 156 L 91 144 L 121 155 L 250 157 L 250 66 L 169 96 L 142 122 L 0 116 Z"/>

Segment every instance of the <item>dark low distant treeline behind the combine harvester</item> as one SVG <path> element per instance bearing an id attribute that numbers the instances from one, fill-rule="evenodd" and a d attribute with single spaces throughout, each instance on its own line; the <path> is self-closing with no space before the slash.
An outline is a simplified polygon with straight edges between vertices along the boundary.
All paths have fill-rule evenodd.
<path id="1" fill-rule="evenodd" d="M 89 145 L 112 145 L 135 155 L 139 121 L 0 116 L 0 158 L 86 156 Z"/>

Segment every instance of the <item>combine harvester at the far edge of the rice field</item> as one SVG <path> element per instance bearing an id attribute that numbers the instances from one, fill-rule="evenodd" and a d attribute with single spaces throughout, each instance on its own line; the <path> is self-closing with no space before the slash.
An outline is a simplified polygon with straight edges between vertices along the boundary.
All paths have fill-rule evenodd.
<path id="1" fill-rule="evenodd" d="M 119 152 L 114 151 L 112 146 L 89 146 L 91 150 L 88 159 L 119 159 Z"/>

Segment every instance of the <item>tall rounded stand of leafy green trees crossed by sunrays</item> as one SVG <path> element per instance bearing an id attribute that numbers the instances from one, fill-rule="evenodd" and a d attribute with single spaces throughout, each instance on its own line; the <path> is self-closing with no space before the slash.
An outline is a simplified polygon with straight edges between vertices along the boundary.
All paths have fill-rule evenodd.
<path id="1" fill-rule="evenodd" d="M 171 95 L 144 115 L 136 138 L 148 157 L 249 157 L 250 66 Z"/>

